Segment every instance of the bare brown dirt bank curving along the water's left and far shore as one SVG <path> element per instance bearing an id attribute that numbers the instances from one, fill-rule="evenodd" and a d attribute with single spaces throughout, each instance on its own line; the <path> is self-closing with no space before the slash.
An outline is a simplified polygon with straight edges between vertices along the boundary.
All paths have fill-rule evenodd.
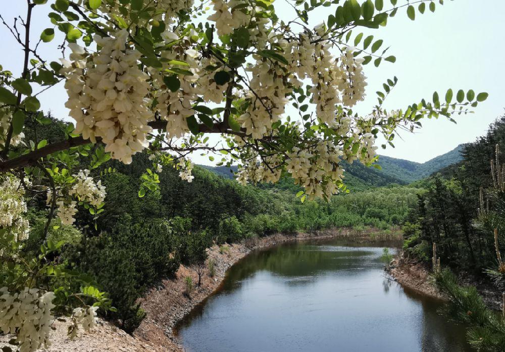
<path id="1" fill-rule="evenodd" d="M 334 229 L 317 234 L 299 233 L 296 235 L 271 235 L 256 239 L 249 243 L 226 245 L 227 250 L 220 250 L 218 245 L 208 249 L 209 260 L 216 266 L 216 274 L 211 277 L 206 268 L 200 287 L 195 287 L 190 297 L 185 294 L 186 276 L 191 276 L 197 282 L 194 271 L 180 266 L 175 276 L 162 280 L 157 287 L 151 288 L 139 303 L 146 312 L 146 317 L 135 330 L 133 336 L 117 328 L 113 323 L 98 319 L 97 326 L 90 332 L 82 329 L 74 340 L 67 338 L 68 321 L 56 321 L 55 330 L 51 334 L 52 345 L 47 352 L 166 352 L 184 351 L 173 335 L 173 328 L 196 305 L 211 295 L 222 283 L 226 271 L 233 264 L 248 255 L 252 250 L 266 248 L 278 243 L 323 238 L 342 238 L 352 242 L 382 242 L 398 240 L 396 233 L 383 234 L 380 230 L 353 231 L 350 229 Z M 67 319 L 68 320 L 68 319 Z M 0 334 L 0 349 L 8 346 L 12 338 Z M 15 346 L 12 346 L 15 347 Z M 15 350 L 15 348 L 13 348 Z"/>

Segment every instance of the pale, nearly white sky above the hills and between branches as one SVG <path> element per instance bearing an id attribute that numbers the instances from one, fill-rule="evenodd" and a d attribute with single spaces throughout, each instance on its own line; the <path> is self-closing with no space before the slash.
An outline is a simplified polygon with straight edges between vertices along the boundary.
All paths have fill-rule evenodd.
<path id="1" fill-rule="evenodd" d="M 388 4 L 387 1 L 384 3 Z M 274 5 L 277 13 L 289 11 L 282 0 L 276 0 Z M 12 18 L 23 15 L 25 9 L 26 2 L 14 0 L 9 2 L 8 7 L 2 7 L 0 14 L 12 23 Z M 329 9 L 334 7 L 324 9 L 326 17 L 330 13 Z M 31 36 L 33 41 L 38 40 L 44 28 L 52 27 L 46 17 L 48 10 L 48 6 L 35 7 Z M 429 11 L 424 15 L 417 13 L 416 21 L 411 21 L 405 10 L 399 10 L 394 18 L 388 20 L 386 27 L 369 30 L 376 39 L 384 40 L 382 47 L 391 46 L 388 53 L 396 56 L 396 63 L 383 63 L 379 68 L 375 68 L 373 64 L 365 66 L 368 96 L 356 109 L 360 113 L 366 114 L 370 111 L 376 103 L 375 91 L 381 89 L 382 83 L 393 76 L 397 76 L 399 81 L 386 100 L 385 107 L 388 110 L 406 108 L 423 97 L 431 99 L 434 90 L 442 92 L 441 96 L 447 88 L 455 91 L 460 88 L 465 91 L 474 89 L 477 93 L 489 93 L 486 102 L 475 109 L 475 114 L 456 116 L 457 124 L 443 118 L 425 120 L 423 128 L 417 133 L 402 132 L 402 140 L 398 137 L 395 139 L 395 148 L 379 148 L 379 154 L 425 162 L 448 152 L 460 143 L 474 141 L 485 133 L 494 119 L 503 114 L 503 13 L 503 0 L 446 1 L 443 7 L 438 6 L 437 2 L 434 14 Z M 0 25 L 0 65 L 19 76 L 23 53 L 5 26 Z M 55 51 L 55 47 L 62 40 L 63 37 L 58 37 L 57 34 L 57 38 L 52 42 L 41 43 L 39 52 L 49 61 L 58 60 L 61 53 Z M 39 97 L 45 112 L 51 110 L 54 116 L 71 121 L 64 106 L 66 92 L 61 84 L 45 91 Z M 207 158 L 199 156 L 195 156 L 194 161 L 209 164 Z"/>

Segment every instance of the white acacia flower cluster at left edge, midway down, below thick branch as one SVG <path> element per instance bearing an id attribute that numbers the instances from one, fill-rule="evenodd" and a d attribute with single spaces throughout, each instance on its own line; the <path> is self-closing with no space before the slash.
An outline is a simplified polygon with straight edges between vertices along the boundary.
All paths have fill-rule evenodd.
<path id="1" fill-rule="evenodd" d="M 28 238 L 30 225 L 23 218 L 26 213 L 24 188 L 15 177 L 0 179 L 0 229 L 6 229 L 7 235 L 13 235 L 14 241 Z"/>

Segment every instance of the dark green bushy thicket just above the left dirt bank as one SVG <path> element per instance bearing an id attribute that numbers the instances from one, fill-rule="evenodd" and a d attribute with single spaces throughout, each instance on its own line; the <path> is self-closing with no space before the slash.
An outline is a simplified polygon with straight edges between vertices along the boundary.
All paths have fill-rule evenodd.
<path id="1" fill-rule="evenodd" d="M 126 215 L 111 233 L 83 237 L 67 248 L 64 258 L 70 267 L 89 274 L 110 292 L 118 310 L 113 318 L 132 332 L 143 317 L 136 299 L 161 276 L 179 267 L 178 256 L 173 255 L 177 242 L 167 221 L 148 219 L 132 224 Z"/>

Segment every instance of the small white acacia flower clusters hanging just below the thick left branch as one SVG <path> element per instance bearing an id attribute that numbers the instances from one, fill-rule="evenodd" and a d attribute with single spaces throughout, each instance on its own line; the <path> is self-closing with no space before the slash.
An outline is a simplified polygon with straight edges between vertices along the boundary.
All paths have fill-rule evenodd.
<path id="1" fill-rule="evenodd" d="M 72 225 L 75 222 L 77 214 L 77 200 L 85 202 L 93 207 L 98 207 L 104 203 L 107 192 L 102 181 L 94 182 L 89 176 L 89 170 L 80 170 L 73 175 L 76 182 L 68 190 L 68 195 L 64 194 L 62 188 L 58 189 L 56 197 L 57 215 L 62 224 Z M 77 199 L 77 200 L 76 200 Z M 53 190 L 47 191 L 46 205 L 50 206 L 53 203 Z"/>

